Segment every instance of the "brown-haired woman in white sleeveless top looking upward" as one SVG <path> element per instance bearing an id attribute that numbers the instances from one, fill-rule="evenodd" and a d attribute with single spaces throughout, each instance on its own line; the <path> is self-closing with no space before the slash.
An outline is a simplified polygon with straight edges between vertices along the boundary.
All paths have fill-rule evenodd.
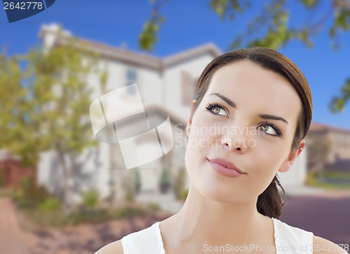
<path id="1" fill-rule="evenodd" d="M 183 208 L 97 253 L 346 253 L 278 220 L 276 173 L 302 152 L 311 115 L 307 80 L 279 52 L 217 57 L 200 76 L 188 120 Z"/>

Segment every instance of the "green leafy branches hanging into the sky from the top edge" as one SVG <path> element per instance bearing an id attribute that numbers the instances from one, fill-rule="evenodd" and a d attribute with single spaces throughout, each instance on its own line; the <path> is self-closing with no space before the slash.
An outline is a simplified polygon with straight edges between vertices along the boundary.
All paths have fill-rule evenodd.
<path id="1" fill-rule="evenodd" d="M 143 50 L 151 51 L 155 43 L 159 41 L 158 33 L 165 22 L 165 15 L 162 15 L 162 6 L 169 0 L 151 0 L 151 17 L 144 24 L 139 36 L 139 46 Z M 259 2 L 259 3 L 257 3 Z M 235 22 L 237 15 L 247 14 L 251 6 L 259 5 L 261 9 L 258 15 L 251 18 L 251 21 L 244 27 L 244 32 L 232 38 L 230 49 L 241 47 L 262 46 L 278 50 L 289 41 L 302 41 L 307 47 L 314 45 L 314 38 L 323 29 L 328 29 L 332 48 L 337 49 L 340 45 L 339 34 L 350 29 L 350 1 L 347 0 L 297 0 L 293 3 L 300 3 L 310 14 L 309 19 L 299 21 L 298 13 L 291 13 L 288 9 L 287 0 L 209 0 L 202 4 L 208 4 L 218 17 L 225 21 Z M 263 3 L 263 4 L 261 4 Z M 321 3 L 327 3 L 325 9 L 321 9 Z M 186 8 L 185 3 L 183 8 Z M 293 15 L 292 15 L 293 14 Z M 293 26 L 293 24 L 297 24 Z M 330 22 L 330 25 L 328 25 Z M 240 24 L 242 25 L 242 24 Z M 342 111 L 344 105 L 350 98 L 350 78 L 342 87 L 339 96 L 330 101 L 332 112 Z"/>

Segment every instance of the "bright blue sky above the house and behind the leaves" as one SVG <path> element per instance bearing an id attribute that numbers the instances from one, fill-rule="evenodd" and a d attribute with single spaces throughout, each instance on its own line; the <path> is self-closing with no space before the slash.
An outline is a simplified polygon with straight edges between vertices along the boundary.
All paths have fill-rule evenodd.
<path id="1" fill-rule="evenodd" d="M 261 3 L 262 1 L 260 1 Z M 298 1 L 289 1 L 292 26 L 316 20 L 328 6 L 320 6 L 314 13 L 306 13 Z M 323 4 L 328 4 L 325 1 Z M 256 3 L 256 1 L 255 1 Z M 38 31 L 42 24 L 61 24 L 72 34 L 93 41 L 139 51 L 138 37 L 144 22 L 151 15 L 151 5 L 146 0 L 56 0 L 47 10 L 25 20 L 8 23 L 2 5 L 0 10 L 0 46 L 9 55 L 26 52 L 40 43 Z M 209 1 L 169 0 L 162 8 L 166 22 L 160 31 L 160 40 L 151 55 L 165 57 L 204 43 L 215 43 L 223 52 L 230 42 L 244 31 L 244 24 L 261 6 L 252 6 L 234 22 L 221 21 L 209 8 Z M 328 26 L 330 20 L 325 23 Z M 350 129 L 350 104 L 343 113 L 332 115 L 328 104 L 339 94 L 339 88 L 350 78 L 350 32 L 339 36 L 342 47 L 330 47 L 328 30 L 314 38 L 314 48 L 292 41 L 279 51 L 299 66 L 309 81 L 314 98 L 314 122 L 323 122 Z"/>

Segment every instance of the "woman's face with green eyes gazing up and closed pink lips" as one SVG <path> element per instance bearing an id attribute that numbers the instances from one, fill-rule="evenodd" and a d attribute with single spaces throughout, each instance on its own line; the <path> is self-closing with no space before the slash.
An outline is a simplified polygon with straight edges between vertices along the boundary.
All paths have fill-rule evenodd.
<path id="1" fill-rule="evenodd" d="M 188 122 L 193 187 L 223 203 L 256 199 L 300 153 L 291 145 L 301 108 L 293 86 L 277 73 L 248 60 L 218 69 Z"/>

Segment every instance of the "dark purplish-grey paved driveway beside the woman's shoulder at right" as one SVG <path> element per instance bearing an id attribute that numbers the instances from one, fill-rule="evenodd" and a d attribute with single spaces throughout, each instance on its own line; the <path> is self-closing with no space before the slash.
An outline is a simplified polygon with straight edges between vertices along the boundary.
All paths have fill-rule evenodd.
<path id="1" fill-rule="evenodd" d="M 287 195 L 280 219 L 335 244 L 350 245 L 350 191 Z"/>

